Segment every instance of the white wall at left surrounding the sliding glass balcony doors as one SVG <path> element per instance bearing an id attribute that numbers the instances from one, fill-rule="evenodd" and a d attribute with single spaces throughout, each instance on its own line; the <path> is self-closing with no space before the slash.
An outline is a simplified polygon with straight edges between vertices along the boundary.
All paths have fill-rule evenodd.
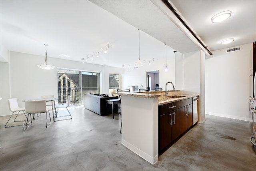
<path id="1" fill-rule="evenodd" d="M 100 93 L 108 94 L 108 74 L 123 74 L 122 68 L 107 67 L 95 64 L 82 64 L 69 60 L 49 58 L 48 64 L 56 66 L 53 70 L 42 70 L 37 64 L 43 64 L 44 56 L 10 52 L 8 65 L 1 62 L 1 103 L 0 115 L 9 115 L 7 99 L 17 97 L 20 107 L 24 107 L 24 99 L 40 98 L 41 95 L 57 97 L 57 68 L 100 72 Z M 8 73 L 10 71 L 10 77 Z M 2 75 L 5 75 L 4 77 Z M 4 80 L 3 80 L 4 79 Z M 10 80 L 10 84 L 8 82 Z M 3 94 L 4 91 L 10 93 Z M 7 104 L 7 105 L 6 105 Z M 6 113 L 8 112 L 8 113 Z"/>

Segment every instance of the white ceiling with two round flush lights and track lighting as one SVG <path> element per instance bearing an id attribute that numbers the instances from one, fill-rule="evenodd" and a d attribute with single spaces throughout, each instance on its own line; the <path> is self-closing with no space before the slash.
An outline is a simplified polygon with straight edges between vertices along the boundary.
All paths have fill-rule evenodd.
<path id="1" fill-rule="evenodd" d="M 256 0 L 172 3 L 210 50 L 256 41 Z M 94 55 L 89 63 L 133 66 L 139 54 L 138 29 L 142 60 L 165 61 L 165 44 L 167 56 L 173 50 L 199 50 L 154 1 L 1 0 L 0 10 L 2 62 L 8 59 L 7 50 L 44 56 L 45 43 L 49 44 L 50 57 L 81 61 L 110 44 L 107 54 L 101 52 L 100 58 Z M 211 23 L 210 18 L 224 10 L 231 10 L 232 17 L 222 23 Z M 220 40 L 230 37 L 235 38 L 232 44 L 220 45 Z M 70 57 L 60 57 L 61 54 Z"/>

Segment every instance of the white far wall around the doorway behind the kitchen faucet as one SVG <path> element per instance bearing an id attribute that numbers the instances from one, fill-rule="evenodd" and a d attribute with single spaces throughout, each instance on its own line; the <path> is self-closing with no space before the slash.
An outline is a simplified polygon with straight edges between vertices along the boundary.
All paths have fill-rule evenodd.
<path id="1" fill-rule="evenodd" d="M 152 57 L 154 58 L 154 57 Z M 129 85 L 138 85 L 138 88 L 146 88 L 146 72 L 159 70 L 159 88 L 165 90 L 166 82 L 172 82 L 175 86 L 175 54 L 171 53 L 167 57 L 168 72 L 164 72 L 166 61 L 154 61 L 151 65 L 144 64 L 142 67 L 130 71 L 125 70 L 122 76 L 122 89 L 127 89 Z M 154 88 L 154 87 L 153 87 Z M 172 89 L 172 85 L 168 84 L 167 89 Z"/>

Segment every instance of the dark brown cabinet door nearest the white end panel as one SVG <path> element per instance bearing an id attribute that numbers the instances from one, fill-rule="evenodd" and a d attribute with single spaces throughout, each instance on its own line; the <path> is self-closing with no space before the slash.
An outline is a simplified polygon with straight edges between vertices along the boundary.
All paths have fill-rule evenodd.
<path id="1" fill-rule="evenodd" d="M 160 115 L 160 151 L 172 141 L 171 114 Z"/>

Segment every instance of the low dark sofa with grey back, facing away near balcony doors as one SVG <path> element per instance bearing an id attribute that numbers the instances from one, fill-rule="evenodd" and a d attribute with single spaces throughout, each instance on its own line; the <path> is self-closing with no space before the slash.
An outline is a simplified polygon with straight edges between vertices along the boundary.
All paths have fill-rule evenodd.
<path id="1" fill-rule="evenodd" d="M 118 99 L 118 96 L 104 97 L 94 94 L 84 94 L 84 108 L 102 116 L 112 114 L 112 105 L 106 103 L 108 99 Z M 118 107 L 115 107 L 115 109 L 118 109 Z"/>

